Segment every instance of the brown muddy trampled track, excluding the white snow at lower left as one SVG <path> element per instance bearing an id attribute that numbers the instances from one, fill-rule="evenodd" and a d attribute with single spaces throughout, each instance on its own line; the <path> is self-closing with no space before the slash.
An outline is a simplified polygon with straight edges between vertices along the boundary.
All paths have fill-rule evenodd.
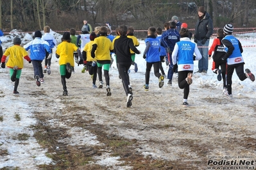
<path id="1" fill-rule="evenodd" d="M 183 108 L 176 81 L 162 89 L 155 83 L 144 91 L 144 79 L 132 79 L 131 74 L 133 105 L 126 108 L 116 70 L 110 77 L 111 97 L 105 88 L 92 89 L 89 73 L 79 68 L 67 80 L 69 96 L 63 97 L 54 65 L 37 87 L 32 65 L 26 63 L 17 97 L 33 109 L 38 120 L 31 127 L 34 136 L 55 162 L 40 166 L 43 169 L 206 169 L 210 157 L 255 160 L 255 98 L 245 94 L 229 100 L 216 94 L 214 86 L 192 84 L 191 106 Z M 106 162 L 108 157 L 118 160 L 100 164 L 103 157 Z"/>

